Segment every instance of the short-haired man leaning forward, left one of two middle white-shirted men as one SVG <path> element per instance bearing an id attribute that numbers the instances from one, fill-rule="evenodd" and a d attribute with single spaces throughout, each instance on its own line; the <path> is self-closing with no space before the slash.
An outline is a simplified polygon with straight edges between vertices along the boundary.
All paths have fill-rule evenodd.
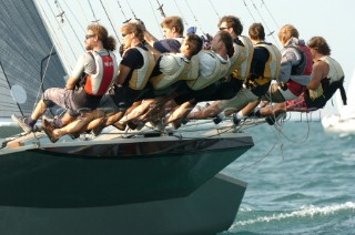
<path id="1" fill-rule="evenodd" d="M 199 75 L 199 61 L 194 55 L 201 51 L 202 43 L 199 35 L 186 34 L 180 47 L 180 53 L 161 53 L 150 79 L 150 90 L 142 98 L 144 101 L 114 126 L 124 130 L 125 124 L 138 116 L 140 119 L 136 121 L 140 123 L 151 121 L 146 119 L 155 116 L 160 106 L 174 98 L 174 91 L 183 82 L 195 80 Z"/>

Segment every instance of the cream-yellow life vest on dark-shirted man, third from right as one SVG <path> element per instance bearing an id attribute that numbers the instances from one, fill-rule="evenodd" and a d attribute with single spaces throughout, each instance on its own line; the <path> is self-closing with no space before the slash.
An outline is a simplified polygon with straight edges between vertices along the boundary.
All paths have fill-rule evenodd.
<path id="1" fill-rule="evenodd" d="M 248 85 L 251 88 L 264 85 L 271 82 L 271 80 L 277 80 L 281 67 L 281 52 L 275 45 L 271 43 L 258 43 L 255 44 L 255 47 L 267 49 L 270 57 L 265 63 L 264 74 L 256 79 L 248 80 Z"/>

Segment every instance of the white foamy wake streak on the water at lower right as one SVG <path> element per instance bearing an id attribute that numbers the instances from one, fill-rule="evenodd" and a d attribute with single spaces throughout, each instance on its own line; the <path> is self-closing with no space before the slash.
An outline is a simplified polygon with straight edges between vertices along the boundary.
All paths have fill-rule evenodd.
<path id="1" fill-rule="evenodd" d="M 250 210 L 244 210 L 252 212 Z M 265 223 L 265 222 L 273 222 L 273 221 L 282 221 L 286 218 L 307 218 L 307 217 L 315 217 L 315 216 L 324 216 L 324 215 L 333 215 L 336 213 L 347 212 L 351 211 L 352 213 L 355 212 L 355 203 L 353 202 L 346 202 L 344 204 L 334 204 L 329 206 L 302 206 L 300 210 L 290 212 L 290 213 L 278 213 L 267 216 L 258 216 L 253 219 L 246 219 L 246 221 L 237 221 L 233 223 L 233 225 L 229 228 L 230 231 L 233 231 L 233 228 L 246 226 L 246 225 L 253 225 L 256 223 Z"/>

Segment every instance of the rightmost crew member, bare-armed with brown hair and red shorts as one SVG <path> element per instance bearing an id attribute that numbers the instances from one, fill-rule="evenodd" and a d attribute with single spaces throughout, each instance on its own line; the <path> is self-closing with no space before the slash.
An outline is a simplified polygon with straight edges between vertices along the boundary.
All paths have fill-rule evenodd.
<path id="1" fill-rule="evenodd" d="M 346 94 L 343 86 L 344 72 L 341 64 L 331 58 L 331 48 L 326 40 L 323 37 L 313 37 L 307 47 L 311 49 L 314 64 L 306 91 L 295 100 L 286 101 L 281 105 L 260 109 L 261 115 L 277 116 L 286 111 L 311 112 L 322 109 L 337 89 L 341 91 L 343 103 L 346 104 Z"/>

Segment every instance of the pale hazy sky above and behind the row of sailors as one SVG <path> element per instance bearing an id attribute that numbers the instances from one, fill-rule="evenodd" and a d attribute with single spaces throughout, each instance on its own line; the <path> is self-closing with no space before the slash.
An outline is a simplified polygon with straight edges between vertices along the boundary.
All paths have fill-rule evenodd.
<path id="1" fill-rule="evenodd" d="M 355 38 L 353 0 L 57 0 L 57 4 L 54 0 L 36 2 L 47 27 L 53 32 L 53 41 L 65 54 L 63 61 L 69 71 L 83 52 L 85 27 L 93 20 L 100 20 L 110 34 L 122 41 L 120 28 L 123 21 L 133 19 L 135 14 L 152 34 L 163 38 L 159 3 L 163 4 L 166 16 L 182 17 L 185 29 L 197 27 L 197 34 L 215 34 L 219 18 L 232 14 L 241 19 L 244 25 L 242 34 L 247 35 L 247 29 L 253 22 L 261 22 L 267 34 L 274 32 L 266 37 L 266 41 L 280 45 L 278 29 L 290 23 L 305 41 L 314 35 L 322 35 L 327 40 L 332 57 L 342 64 L 345 72 L 346 89 L 355 69 L 355 47 L 351 43 Z M 55 18 L 62 11 L 63 18 Z M 336 102 L 333 103 L 335 105 Z M 336 113 L 334 105 L 329 101 L 321 114 Z"/>

